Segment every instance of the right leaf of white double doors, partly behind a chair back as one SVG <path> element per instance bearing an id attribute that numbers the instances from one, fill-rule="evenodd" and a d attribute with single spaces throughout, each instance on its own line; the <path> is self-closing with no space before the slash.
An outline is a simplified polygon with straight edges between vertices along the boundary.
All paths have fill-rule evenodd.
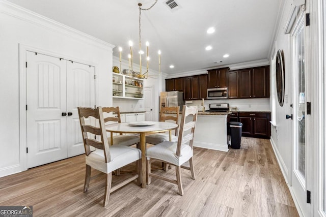
<path id="1" fill-rule="evenodd" d="M 67 156 L 85 153 L 78 107 L 95 106 L 95 68 L 67 61 Z"/>

